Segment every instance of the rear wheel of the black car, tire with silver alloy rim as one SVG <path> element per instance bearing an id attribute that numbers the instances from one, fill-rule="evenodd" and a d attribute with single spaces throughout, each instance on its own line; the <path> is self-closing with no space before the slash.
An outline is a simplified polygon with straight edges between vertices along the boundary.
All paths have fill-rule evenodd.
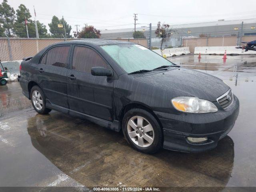
<path id="1" fill-rule="evenodd" d="M 46 100 L 44 92 L 41 90 L 38 86 L 33 86 L 30 91 L 30 98 L 32 105 L 34 107 L 34 110 L 38 112 L 39 114 L 48 114 L 51 109 L 46 108 Z"/>

